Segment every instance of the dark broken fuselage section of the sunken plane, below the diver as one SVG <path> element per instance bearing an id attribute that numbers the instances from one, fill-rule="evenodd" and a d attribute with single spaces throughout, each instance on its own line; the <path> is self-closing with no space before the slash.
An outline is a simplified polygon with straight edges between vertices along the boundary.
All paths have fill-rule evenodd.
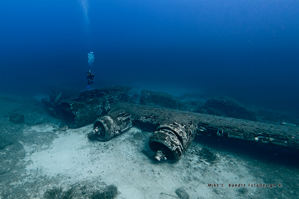
<path id="1" fill-rule="evenodd" d="M 82 92 L 78 99 L 60 101 L 58 95 L 54 102 L 43 99 L 42 102 L 48 109 L 70 128 L 79 128 L 93 123 L 96 118 L 106 115 L 113 103 L 128 101 L 126 91 L 129 87 L 107 87 Z M 55 102 L 57 101 L 57 102 Z"/>

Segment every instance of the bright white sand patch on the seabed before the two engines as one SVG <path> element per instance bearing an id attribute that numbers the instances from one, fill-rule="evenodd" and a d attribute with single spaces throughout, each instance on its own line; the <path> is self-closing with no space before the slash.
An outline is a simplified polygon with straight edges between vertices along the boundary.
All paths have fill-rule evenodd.
<path id="1" fill-rule="evenodd" d="M 208 184 L 224 183 L 228 186 L 228 183 L 257 182 L 244 166 L 245 162 L 232 156 L 217 154 L 221 164 L 210 165 L 193 155 L 192 151 L 200 149 L 197 143 L 192 143 L 178 162 L 157 163 L 142 152 L 151 133 L 137 128 L 131 128 L 108 142 L 92 142 L 87 138 L 92 125 L 56 132 L 52 131 L 52 126 L 40 126 L 27 131 L 48 131 L 58 137 L 41 150 L 24 146 L 27 174 L 31 174 L 33 179 L 59 177 L 58 185 L 62 186 L 96 179 L 117 186 L 120 192 L 117 199 L 171 199 L 180 187 L 191 199 L 236 198 L 239 188 L 211 188 Z M 256 188 L 248 190 L 243 197 L 255 195 Z"/>

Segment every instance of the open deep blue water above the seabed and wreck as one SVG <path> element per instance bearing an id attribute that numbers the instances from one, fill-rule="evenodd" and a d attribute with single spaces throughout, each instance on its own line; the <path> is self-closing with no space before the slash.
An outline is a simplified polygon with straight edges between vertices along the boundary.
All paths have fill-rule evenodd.
<path id="1" fill-rule="evenodd" d="M 0 0 L 0 92 L 84 91 L 89 69 L 299 112 L 299 1 Z"/>

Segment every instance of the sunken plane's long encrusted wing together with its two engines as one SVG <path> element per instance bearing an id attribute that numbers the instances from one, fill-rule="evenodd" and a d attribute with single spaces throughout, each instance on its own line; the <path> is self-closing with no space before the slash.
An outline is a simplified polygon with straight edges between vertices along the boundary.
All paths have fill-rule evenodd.
<path id="1" fill-rule="evenodd" d="M 158 161 L 178 160 L 195 134 L 299 148 L 299 128 L 295 126 L 273 125 L 127 102 L 112 104 L 111 108 L 109 115 L 96 120 L 89 137 L 96 136 L 101 141 L 107 141 L 132 125 L 140 128 L 143 124 L 146 128 L 158 125 L 149 138 L 149 148 L 155 152 L 155 159 Z"/>

